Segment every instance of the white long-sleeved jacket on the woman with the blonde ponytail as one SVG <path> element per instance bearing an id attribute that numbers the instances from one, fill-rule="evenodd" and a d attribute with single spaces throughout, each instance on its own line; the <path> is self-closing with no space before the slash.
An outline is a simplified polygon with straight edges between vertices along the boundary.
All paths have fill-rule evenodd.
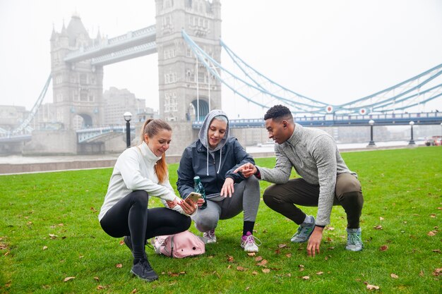
<path id="1" fill-rule="evenodd" d="M 112 171 L 107 194 L 104 197 L 104 203 L 98 219 L 101 221 L 104 214 L 114 204 L 135 190 L 145 190 L 148 192 L 149 197 L 159 197 L 165 207 L 168 207 L 166 200 L 173 201 L 176 198 L 180 200 L 169 183 L 168 174 L 162 183 L 158 181 L 154 167 L 160 159 L 161 157 L 153 154 L 145 142 L 139 147 L 131 147 L 124 150 L 118 157 L 114 171 Z M 186 214 L 179 205 L 176 205 L 173 210 Z"/>

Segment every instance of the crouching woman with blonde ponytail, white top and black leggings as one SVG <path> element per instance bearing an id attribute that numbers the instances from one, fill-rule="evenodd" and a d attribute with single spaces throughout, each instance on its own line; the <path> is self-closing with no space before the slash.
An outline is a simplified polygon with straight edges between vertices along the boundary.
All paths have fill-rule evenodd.
<path id="1" fill-rule="evenodd" d="M 186 231 L 189 216 L 196 213 L 196 203 L 181 200 L 169 183 L 165 152 L 171 140 L 167 122 L 145 121 L 141 144 L 124 150 L 117 159 L 98 216 L 104 232 L 124 237 L 133 255 L 131 273 L 145 281 L 158 278 L 145 253 L 146 240 Z M 159 197 L 165 207 L 148 209 L 149 197 Z"/>

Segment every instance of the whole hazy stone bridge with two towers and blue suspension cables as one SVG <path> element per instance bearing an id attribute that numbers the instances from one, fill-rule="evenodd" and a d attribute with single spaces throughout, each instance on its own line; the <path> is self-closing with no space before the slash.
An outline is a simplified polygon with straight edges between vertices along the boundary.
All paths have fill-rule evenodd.
<path id="1" fill-rule="evenodd" d="M 171 123 L 174 140 L 181 142 L 177 148 L 181 149 L 196 138 L 201 120 L 210 109 L 222 109 L 222 86 L 237 99 L 245 99 L 263 110 L 284 104 L 298 123 L 307 126 L 368 125 L 371 119 L 377 125 L 442 121 L 441 113 L 414 111 L 431 100 L 441 100 L 442 64 L 352 102 L 328 104 L 279 85 L 237 56 L 220 39 L 220 0 L 155 0 L 155 5 L 155 25 L 110 39 L 101 37 L 100 32 L 95 38 L 90 37 L 77 15 L 60 32 L 54 28 L 47 83 L 30 116 L 16 130 L 0 129 L 2 144 L 32 138 L 25 145 L 30 153 L 43 146 L 43 153 L 76 154 L 88 149 L 84 145 L 112 140 L 122 130 L 103 126 L 104 66 L 148 54 L 157 54 L 158 59 L 160 117 Z M 234 68 L 222 66 L 222 50 Z M 43 111 L 40 106 L 51 80 L 53 102 L 45 116 L 60 126 L 59 132 L 35 130 L 30 137 L 30 122 L 38 111 Z M 262 128 L 263 120 L 237 119 L 230 125 Z M 19 139 L 18 135 L 23 137 Z M 71 136 L 69 142 L 76 144 L 59 146 L 60 135 Z M 98 150 L 107 151 L 107 147 Z M 181 152 L 177 149 L 172 153 Z"/>

